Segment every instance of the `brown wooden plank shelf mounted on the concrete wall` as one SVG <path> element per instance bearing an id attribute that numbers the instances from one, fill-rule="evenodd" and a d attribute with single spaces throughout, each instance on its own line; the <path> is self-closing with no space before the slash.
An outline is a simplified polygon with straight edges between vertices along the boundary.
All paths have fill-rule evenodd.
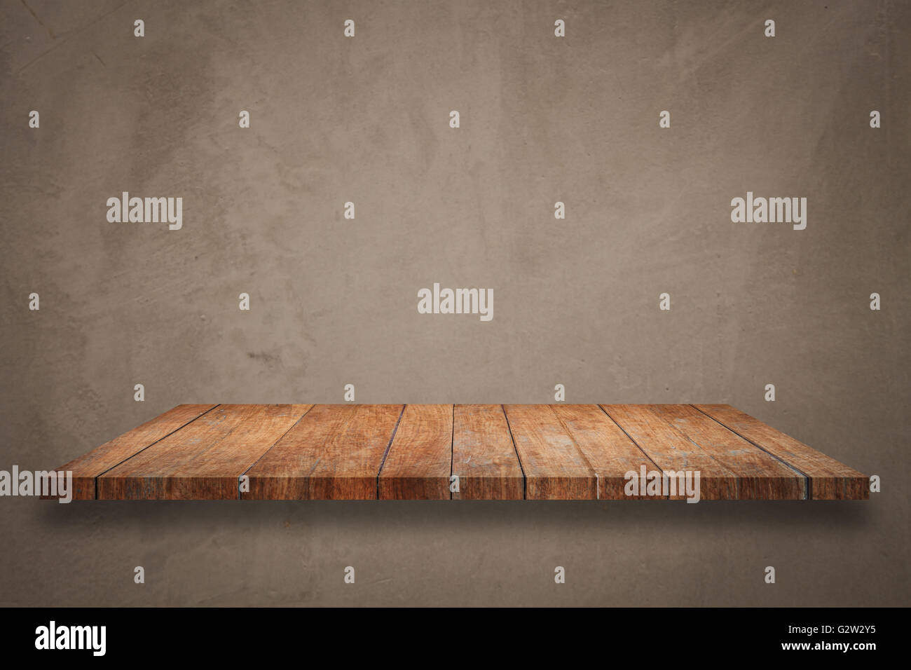
<path id="1" fill-rule="evenodd" d="M 728 405 L 180 405 L 58 470 L 75 500 L 683 500 L 627 490 L 669 470 L 701 500 L 869 497 Z"/>

